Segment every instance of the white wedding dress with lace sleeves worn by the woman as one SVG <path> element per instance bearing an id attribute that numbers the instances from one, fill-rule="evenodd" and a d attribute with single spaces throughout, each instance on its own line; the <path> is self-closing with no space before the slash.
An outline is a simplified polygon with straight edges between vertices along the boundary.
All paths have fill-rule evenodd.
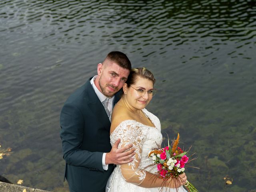
<path id="1" fill-rule="evenodd" d="M 113 146 L 120 138 L 118 148 L 133 144 L 135 150 L 134 160 L 129 164 L 117 165 L 112 172 L 106 186 L 106 192 L 159 192 L 160 188 L 144 188 L 138 186 L 146 177 L 146 171 L 156 173 L 157 169 L 152 169 L 153 161 L 148 158 L 152 148 L 161 146 L 162 134 L 159 119 L 148 110 L 142 110 L 151 120 L 155 127 L 144 125 L 136 120 L 125 120 L 121 122 L 110 135 L 110 143 Z M 146 169 L 145 169 L 146 168 Z M 152 179 L 153 182 L 153 179 Z M 166 191 L 165 189 L 163 192 Z M 167 188 L 167 192 L 176 192 L 175 188 Z M 178 188 L 178 192 L 186 192 L 183 187 Z"/>

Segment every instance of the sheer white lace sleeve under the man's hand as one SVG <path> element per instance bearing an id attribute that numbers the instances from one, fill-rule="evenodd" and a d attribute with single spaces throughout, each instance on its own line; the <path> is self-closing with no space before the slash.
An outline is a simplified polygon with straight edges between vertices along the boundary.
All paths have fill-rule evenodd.
<path id="1" fill-rule="evenodd" d="M 120 165 L 121 173 L 126 182 L 139 185 L 146 177 L 146 172 L 140 168 L 142 146 L 146 137 L 147 128 L 140 126 L 137 122 L 123 122 L 118 126 L 115 133 L 116 139 L 120 138 L 121 142 L 118 148 L 133 144 L 135 148 L 134 160 L 128 164 Z"/>

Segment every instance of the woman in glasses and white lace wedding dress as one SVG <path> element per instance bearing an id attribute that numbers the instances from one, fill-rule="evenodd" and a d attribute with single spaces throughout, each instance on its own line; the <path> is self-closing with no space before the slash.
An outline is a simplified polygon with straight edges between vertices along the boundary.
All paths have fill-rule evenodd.
<path id="1" fill-rule="evenodd" d="M 132 69 L 128 80 L 123 86 L 124 94 L 112 112 L 110 142 L 120 138 L 118 148 L 133 144 L 134 160 L 128 164 L 117 165 L 112 172 L 106 192 L 159 192 L 163 184 L 161 178 L 155 178 L 156 169 L 146 168 L 153 161 L 148 158 L 151 148 L 162 143 L 159 119 L 148 112 L 145 107 L 156 93 L 153 88 L 155 79 L 146 68 Z M 156 144 L 157 143 L 157 144 Z M 146 168 L 146 169 L 145 169 Z M 153 177 L 152 177 L 153 176 Z M 182 187 L 186 183 L 186 174 L 180 179 L 166 183 L 170 192 L 186 192 Z M 177 188 L 177 189 L 176 189 Z"/>

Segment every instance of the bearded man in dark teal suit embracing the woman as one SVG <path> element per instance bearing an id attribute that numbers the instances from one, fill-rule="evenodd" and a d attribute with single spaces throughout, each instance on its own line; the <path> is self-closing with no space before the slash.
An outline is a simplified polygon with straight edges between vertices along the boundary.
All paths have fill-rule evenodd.
<path id="1" fill-rule="evenodd" d="M 114 164 L 132 161 L 132 145 L 110 145 L 110 119 L 118 92 L 131 70 L 126 54 L 110 52 L 90 78 L 66 100 L 60 113 L 60 138 L 70 192 L 105 192 Z"/>

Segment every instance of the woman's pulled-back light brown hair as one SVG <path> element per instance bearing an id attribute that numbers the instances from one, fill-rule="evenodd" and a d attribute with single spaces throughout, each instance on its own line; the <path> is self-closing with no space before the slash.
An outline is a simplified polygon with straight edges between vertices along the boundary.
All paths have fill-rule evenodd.
<path id="1" fill-rule="evenodd" d="M 146 78 L 148 80 L 151 80 L 154 83 L 156 82 L 156 79 L 154 78 L 154 75 L 152 72 L 144 67 L 134 68 L 131 70 L 128 79 L 126 80 L 126 84 L 128 87 L 130 87 L 132 84 L 134 84 L 137 80 L 137 77 L 140 76 L 142 78 Z"/>

